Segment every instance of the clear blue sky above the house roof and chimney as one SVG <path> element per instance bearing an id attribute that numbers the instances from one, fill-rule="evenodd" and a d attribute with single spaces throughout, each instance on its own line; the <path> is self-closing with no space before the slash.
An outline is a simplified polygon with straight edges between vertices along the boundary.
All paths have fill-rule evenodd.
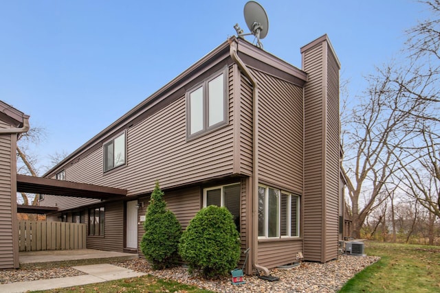
<path id="1" fill-rule="evenodd" d="M 73 152 L 234 35 L 235 23 L 248 32 L 246 2 L 0 0 L 0 99 L 47 131 L 35 149 L 42 163 Z M 264 49 L 300 67 L 300 47 L 328 34 L 353 98 L 429 15 L 410 0 L 259 3 L 270 21 Z"/>

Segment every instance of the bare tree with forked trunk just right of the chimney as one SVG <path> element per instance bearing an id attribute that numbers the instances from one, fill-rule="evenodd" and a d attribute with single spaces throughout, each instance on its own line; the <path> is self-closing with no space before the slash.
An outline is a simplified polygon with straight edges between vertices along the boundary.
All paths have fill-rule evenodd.
<path id="1" fill-rule="evenodd" d="M 376 75 L 368 78 L 369 87 L 360 103 L 341 118 L 342 173 L 347 180 L 355 238 L 360 237 L 366 216 L 385 200 L 381 194 L 401 167 L 402 156 L 408 156 L 401 145 L 415 137 L 410 131 L 414 123 L 408 117 L 423 105 L 408 99 L 404 89 L 393 82 L 403 74 L 405 71 L 394 65 L 377 68 Z"/>

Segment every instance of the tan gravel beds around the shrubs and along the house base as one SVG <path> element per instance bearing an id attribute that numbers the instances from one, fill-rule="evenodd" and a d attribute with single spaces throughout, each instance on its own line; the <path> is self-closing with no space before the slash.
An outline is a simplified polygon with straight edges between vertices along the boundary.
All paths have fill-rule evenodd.
<path id="1" fill-rule="evenodd" d="M 356 273 L 379 259 L 379 257 L 371 256 L 341 255 L 339 259 L 328 263 L 303 262 L 296 268 L 271 270 L 273 276 L 280 278 L 279 281 L 269 282 L 256 276 L 245 276 L 246 283 L 242 285 L 232 285 L 230 277 L 217 280 L 200 279 L 195 275 L 188 274 L 188 270 L 182 267 L 152 270 L 144 259 L 113 261 L 111 263 L 138 272 L 146 272 L 162 279 L 196 285 L 199 288 L 214 292 L 338 292 L 342 285 Z M 84 273 L 69 267 L 3 270 L 0 274 L 0 283 L 73 277 L 81 274 Z"/>

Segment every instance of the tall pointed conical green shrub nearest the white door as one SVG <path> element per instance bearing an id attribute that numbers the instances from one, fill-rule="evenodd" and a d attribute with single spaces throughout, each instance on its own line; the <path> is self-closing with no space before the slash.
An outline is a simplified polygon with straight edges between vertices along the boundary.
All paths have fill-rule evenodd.
<path id="1" fill-rule="evenodd" d="M 158 182 L 146 209 L 144 230 L 140 248 L 153 269 L 173 266 L 178 257 L 181 226 L 174 213 L 166 209 L 164 192 Z"/>

